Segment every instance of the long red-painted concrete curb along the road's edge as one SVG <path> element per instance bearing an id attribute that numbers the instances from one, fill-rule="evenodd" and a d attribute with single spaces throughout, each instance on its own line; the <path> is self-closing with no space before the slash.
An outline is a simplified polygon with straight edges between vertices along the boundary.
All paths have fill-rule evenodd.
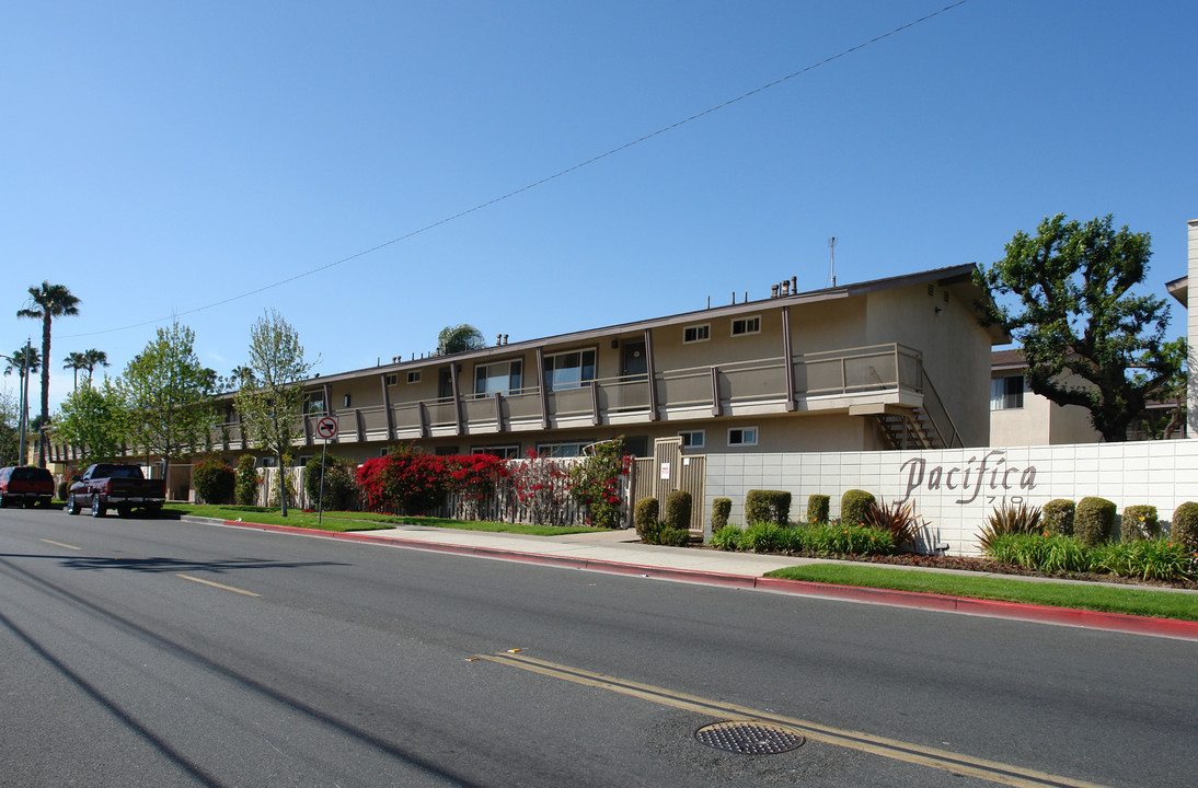
<path id="1" fill-rule="evenodd" d="M 388 545 L 392 547 L 407 547 L 411 550 L 430 550 L 434 552 L 452 553 L 458 556 L 500 558 L 504 560 L 519 560 L 532 564 L 586 569 L 589 571 L 601 571 L 613 575 L 635 575 L 637 577 L 704 583 L 710 586 L 722 586 L 726 588 L 744 588 L 782 594 L 799 594 L 823 599 L 867 602 L 872 605 L 890 605 L 894 607 L 939 611 L 944 613 L 961 613 L 966 616 L 988 616 L 992 618 L 1039 622 L 1063 626 L 1078 626 L 1111 632 L 1125 632 L 1130 635 L 1151 635 L 1156 637 L 1198 641 L 1198 622 L 1182 622 L 1170 618 L 1145 618 L 1140 616 L 1127 616 L 1125 613 L 1103 613 L 1099 611 L 1083 611 L 1069 607 L 1046 607 L 1023 602 L 1004 602 L 985 599 L 969 599 L 964 596 L 944 596 L 940 594 L 889 590 L 884 588 L 867 588 L 860 586 L 836 586 L 833 583 L 782 580 L 778 577 L 728 575 L 696 569 L 673 569 L 668 566 L 631 564 L 592 558 L 551 556 L 518 550 L 504 550 L 501 547 L 454 545 L 449 542 L 426 541 L 423 539 L 404 539 L 401 537 L 377 537 L 359 532 L 343 533 L 334 531 L 314 531 L 311 528 L 296 528 L 294 526 L 270 526 L 256 522 L 216 520 L 212 517 L 195 517 L 190 515 L 184 515 L 181 520 L 187 522 L 206 522 L 236 528 L 253 528 L 255 531 L 315 537 L 319 539 L 341 539 L 345 541 Z"/>

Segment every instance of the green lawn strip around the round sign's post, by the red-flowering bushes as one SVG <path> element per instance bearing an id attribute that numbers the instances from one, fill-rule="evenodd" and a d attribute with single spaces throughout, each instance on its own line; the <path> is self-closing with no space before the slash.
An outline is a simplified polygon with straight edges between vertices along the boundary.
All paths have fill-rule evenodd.
<path id="1" fill-rule="evenodd" d="M 321 531 L 379 531 L 393 526 L 429 526 L 432 528 L 459 528 L 461 531 L 491 531 L 498 533 L 531 534 L 533 537 L 561 537 L 563 534 L 582 534 L 601 531 L 600 528 L 567 528 L 553 526 L 528 526 L 509 522 L 477 522 L 471 520 L 446 520 L 442 517 L 395 517 L 367 511 L 326 511 L 320 522 L 314 513 L 289 509 L 288 516 L 278 509 L 262 507 L 211 507 L 189 503 L 171 503 L 163 508 L 165 513 L 213 517 L 216 520 L 243 520 L 264 526 L 291 526 L 292 528 L 319 528 Z"/>

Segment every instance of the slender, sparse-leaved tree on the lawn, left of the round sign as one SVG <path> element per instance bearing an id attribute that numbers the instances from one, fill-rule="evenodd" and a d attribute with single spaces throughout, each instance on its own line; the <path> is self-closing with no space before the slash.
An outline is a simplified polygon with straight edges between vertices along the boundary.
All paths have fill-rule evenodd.
<path id="1" fill-rule="evenodd" d="M 246 364 L 250 375 L 241 376 L 242 386 L 234 404 L 248 440 L 277 460 L 277 495 L 284 517 L 288 516 L 284 457 L 290 454 L 292 441 L 303 435 L 303 381 L 314 365 L 304 360 L 300 334 L 278 311 L 272 309 L 254 321 Z"/>

